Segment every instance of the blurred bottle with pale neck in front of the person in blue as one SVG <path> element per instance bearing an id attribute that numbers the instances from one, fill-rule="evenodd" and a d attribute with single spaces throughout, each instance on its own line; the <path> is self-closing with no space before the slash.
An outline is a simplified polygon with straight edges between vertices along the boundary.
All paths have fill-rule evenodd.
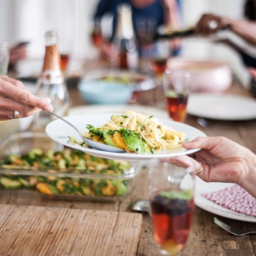
<path id="1" fill-rule="evenodd" d="M 117 28 L 113 39 L 117 49 L 115 66 L 120 69 L 135 69 L 138 65 L 138 50 L 134 36 L 131 5 L 118 5 L 117 13 Z"/>

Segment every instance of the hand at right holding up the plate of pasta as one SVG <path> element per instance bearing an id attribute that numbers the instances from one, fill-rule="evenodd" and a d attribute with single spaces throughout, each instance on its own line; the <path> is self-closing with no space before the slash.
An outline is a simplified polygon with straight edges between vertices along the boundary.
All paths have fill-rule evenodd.
<path id="1" fill-rule="evenodd" d="M 195 165 L 207 182 L 231 182 L 240 185 L 256 197 L 256 155 L 249 149 L 224 137 L 198 137 L 183 144 L 186 149 L 201 148 L 191 158 L 187 155 L 169 158 L 165 162 L 188 167 Z"/>

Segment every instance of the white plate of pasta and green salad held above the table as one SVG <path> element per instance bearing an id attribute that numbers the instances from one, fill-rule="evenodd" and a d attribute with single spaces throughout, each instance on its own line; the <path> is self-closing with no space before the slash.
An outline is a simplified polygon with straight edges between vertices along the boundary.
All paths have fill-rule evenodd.
<path id="1" fill-rule="evenodd" d="M 48 123 L 46 133 L 51 139 L 90 155 L 109 159 L 138 161 L 189 155 L 197 152 L 199 148 L 186 150 L 182 143 L 198 136 L 206 136 L 187 124 L 169 119 L 158 120 L 153 115 L 133 111 L 120 114 L 84 114 L 65 119 L 76 126 L 91 144 L 85 144 L 80 135 L 61 120 Z M 97 143 L 97 148 L 93 147 L 93 143 Z M 105 145 L 120 151 L 106 151 Z"/>

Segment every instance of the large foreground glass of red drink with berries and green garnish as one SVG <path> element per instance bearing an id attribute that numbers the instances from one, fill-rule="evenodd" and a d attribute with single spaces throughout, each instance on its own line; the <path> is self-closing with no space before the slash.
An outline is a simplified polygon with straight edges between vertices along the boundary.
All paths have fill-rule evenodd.
<path id="1" fill-rule="evenodd" d="M 183 250 L 194 210 L 195 167 L 178 167 L 159 160 L 149 165 L 149 199 L 155 240 L 162 255 Z"/>

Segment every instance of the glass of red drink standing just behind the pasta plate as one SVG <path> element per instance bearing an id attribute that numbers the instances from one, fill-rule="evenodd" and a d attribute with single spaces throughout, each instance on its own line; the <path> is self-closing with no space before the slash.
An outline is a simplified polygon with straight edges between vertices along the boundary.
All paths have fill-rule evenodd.
<path id="1" fill-rule="evenodd" d="M 183 70 L 167 69 L 164 74 L 163 85 L 166 111 L 174 121 L 184 122 L 187 116 L 190 74 Z"/>

